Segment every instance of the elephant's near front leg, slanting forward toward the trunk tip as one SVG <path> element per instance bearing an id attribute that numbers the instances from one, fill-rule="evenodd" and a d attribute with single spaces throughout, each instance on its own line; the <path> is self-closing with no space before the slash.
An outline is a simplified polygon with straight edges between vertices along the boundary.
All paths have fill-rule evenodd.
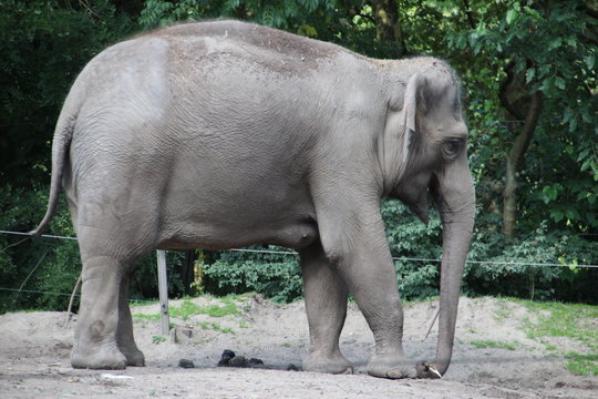
<path id="1" fill-rule="evenodd" d="M 415 377 L 402 347 L 403 309 L 378 202 L 368 206 L 355 196 L 352 204 L 342 205 L 347 208 L 319 215 L 318 224 L 324 253 L 373 332 L 375 354 L 368 372 L 383 378 Z"/>

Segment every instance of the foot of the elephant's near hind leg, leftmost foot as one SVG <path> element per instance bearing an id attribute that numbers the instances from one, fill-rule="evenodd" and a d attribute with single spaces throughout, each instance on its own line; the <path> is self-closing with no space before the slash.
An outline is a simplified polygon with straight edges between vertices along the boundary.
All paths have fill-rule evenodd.
<path id="1" fill-rule="evenodd" d="M 75 345 L 71 351 L 73 368 L 122 370 L 127 365 L 126 357 L 116 345 Z"/>

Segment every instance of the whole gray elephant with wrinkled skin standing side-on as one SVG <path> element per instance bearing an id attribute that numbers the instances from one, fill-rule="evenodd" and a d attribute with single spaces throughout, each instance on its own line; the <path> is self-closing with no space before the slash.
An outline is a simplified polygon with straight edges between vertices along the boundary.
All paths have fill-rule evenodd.
<path id="1" fill-rule="evenodd" d="M 446 371 L 474 219 L 458 83 L 443 61 L 379 61 L 254 24 L 159 30 L 113 45 L 58 121 L 40 234 L 65 190 L 83 260 L 75 368 L 143 366 L 127 304 L 155 248 L 268 243 L 301 258 L 303 369 L 351 372 L 339 350 L 352 294 L 375 339 L 368 370 L 433 377 L 402 348 L 403 311 L 380 198 L 444 228 L 436 359 Z"/>

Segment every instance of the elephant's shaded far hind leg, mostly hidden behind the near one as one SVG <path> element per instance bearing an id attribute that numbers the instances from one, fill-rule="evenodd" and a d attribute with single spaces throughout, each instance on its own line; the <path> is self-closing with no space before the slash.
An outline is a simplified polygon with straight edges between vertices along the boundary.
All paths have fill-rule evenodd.
<path id="1" fill-rule="evenodd" d="M 116 327 L 116 345 L 126 357 L 127 366 L 145 366 L 145 357 L 137 348 L 133 337 L 133 318 L 128 306 L 130 274 L 123 277 L 118 295 L 118 325 Z"/>

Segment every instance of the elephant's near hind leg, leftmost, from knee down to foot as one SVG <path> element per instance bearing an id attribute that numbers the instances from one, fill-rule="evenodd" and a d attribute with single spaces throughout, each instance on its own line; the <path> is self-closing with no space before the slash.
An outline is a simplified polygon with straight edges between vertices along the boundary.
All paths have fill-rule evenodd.
<path id="1" fill-rule="evenodd" d="M 118 300 L 123 265 L 116 257 L 83 258 L 81 306 L 71 351 L 74 368 L 124 369 L 117 347 Z"/>

